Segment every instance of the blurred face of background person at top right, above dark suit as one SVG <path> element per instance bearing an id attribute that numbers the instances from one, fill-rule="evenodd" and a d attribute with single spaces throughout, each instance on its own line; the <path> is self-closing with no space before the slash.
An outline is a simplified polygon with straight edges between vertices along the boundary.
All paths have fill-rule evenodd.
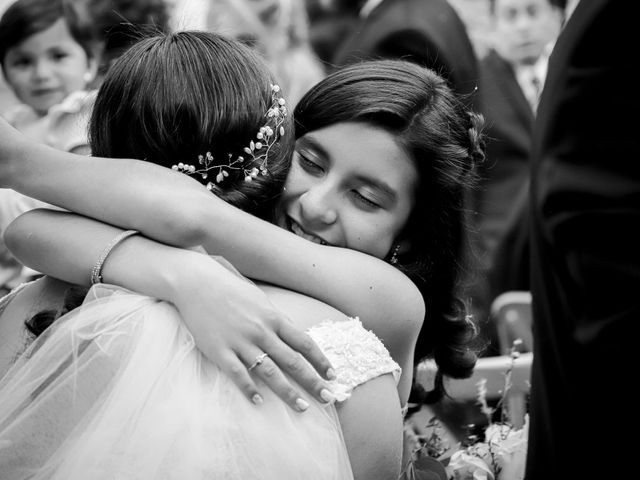
<path id="1" fill-rule="evenodd" d="M 495 0 L 496 49 L 511 63 L 535 63 L 560 33 L 561 15 L 549 0 Z"/>

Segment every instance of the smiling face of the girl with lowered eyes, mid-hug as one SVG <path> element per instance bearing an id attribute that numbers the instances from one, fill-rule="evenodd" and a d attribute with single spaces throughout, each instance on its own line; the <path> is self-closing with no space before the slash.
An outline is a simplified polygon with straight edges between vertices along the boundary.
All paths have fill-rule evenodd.
<path id="1" fill-rule="evenodd" d="M 418 172 L 388 132 L 340 123 L 296 143 L 277 223 L 308 240 L 388 255 L 415 203 Z"/>

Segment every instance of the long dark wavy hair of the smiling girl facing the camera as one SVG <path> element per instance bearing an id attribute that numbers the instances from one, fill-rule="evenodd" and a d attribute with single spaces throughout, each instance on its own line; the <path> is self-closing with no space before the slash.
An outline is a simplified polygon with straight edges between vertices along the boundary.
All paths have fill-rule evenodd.
<path id="1" fill-rule="evenodd" d="M 465 208 L 484 160 L 483 124 L 430 69 L 402 60 L 373 60 L 344 67 L 313 87 L 294 111 L 296 138 L 340 122 L 384 129 L 413 160 L 420 186 L 416 205 L 398 240 L 411 247 L 396 266 L 420 288 L 426 304 L 415 361 L 433 358 L 442 376 L 471 375 L 476 331 L 458 295 L 468 268 L 470 230 Z M 389 252 L 391 254 L 391 252 Z"/>

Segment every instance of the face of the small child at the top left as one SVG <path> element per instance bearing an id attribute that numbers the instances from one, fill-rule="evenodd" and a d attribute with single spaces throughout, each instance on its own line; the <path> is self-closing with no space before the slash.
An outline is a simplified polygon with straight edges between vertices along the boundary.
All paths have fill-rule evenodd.
<path id="1" fill-rule="evenodd" d="M 4 73 L 16 96 L 40 115 L 70 93 L 82 90 L 95 62 L 59 19 L 7 51 Z"/>

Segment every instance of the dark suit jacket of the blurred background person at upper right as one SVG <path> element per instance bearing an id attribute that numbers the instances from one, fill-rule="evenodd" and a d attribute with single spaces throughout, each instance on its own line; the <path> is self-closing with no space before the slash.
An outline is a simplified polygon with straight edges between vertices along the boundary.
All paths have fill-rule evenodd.
<path id="1" fill-rule="evenodd" d="M 486 298 L 474 303 L 487 308 L 502 292 L 529 289 L 528 231 L 521 231 L 526 226 L 521 217 L 528 208 L 534 114 L 511 64 L 496 51 L 480 61 L 480 79 L 487 159 L 475 210 L 487 285 Z"/>

